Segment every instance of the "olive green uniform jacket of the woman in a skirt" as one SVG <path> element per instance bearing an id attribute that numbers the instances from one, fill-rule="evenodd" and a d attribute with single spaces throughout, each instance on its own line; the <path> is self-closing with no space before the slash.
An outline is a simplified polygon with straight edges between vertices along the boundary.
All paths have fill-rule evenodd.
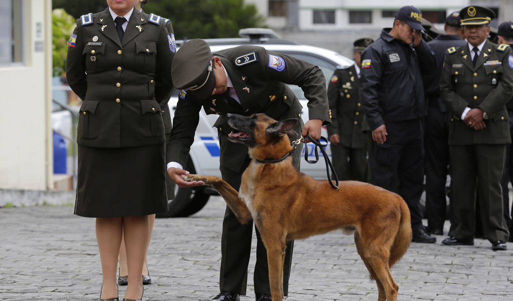
<path id="1" fill-rule="evenodd" d="M 134 10 L 120 42 L 109 9 L 83 15 L 68 43 L 67 80 L 83 100 L 77 143 L 131 147 L 165 141 L 174 41 L 160 16 Z M 171 27 L 172 28 L 172 27 Z M 167 123 L 165 125 L 165 123 Z"/>

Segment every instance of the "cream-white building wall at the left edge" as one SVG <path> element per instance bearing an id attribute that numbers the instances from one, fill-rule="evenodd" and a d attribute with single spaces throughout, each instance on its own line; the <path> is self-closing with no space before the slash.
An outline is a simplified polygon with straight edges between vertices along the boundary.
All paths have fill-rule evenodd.
<path id="1" fill-rule="evenodd" d="M 24 62 L 0 66 L 0 189 L 46 190 L 52 168 L 51 1 L 23 5 Z"/>

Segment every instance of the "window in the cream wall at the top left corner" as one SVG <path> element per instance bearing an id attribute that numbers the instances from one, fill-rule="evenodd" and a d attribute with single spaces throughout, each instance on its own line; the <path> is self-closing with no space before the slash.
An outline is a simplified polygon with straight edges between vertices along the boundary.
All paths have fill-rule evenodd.
<path id="1" fill-rule="evenodd" d="M 23 1 L 0 0 L 0 65 L 23 61 Z"/>

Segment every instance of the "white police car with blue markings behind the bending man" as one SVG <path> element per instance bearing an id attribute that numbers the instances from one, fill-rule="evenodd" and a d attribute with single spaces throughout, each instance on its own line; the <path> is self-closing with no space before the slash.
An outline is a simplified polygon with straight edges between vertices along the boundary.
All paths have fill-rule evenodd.
<path id="1" fill-rule="evenodd" d="M 241 29 L 239 34 L 241 38 L 235 39 L 205 39 L 210 45 L 212 52 L 223 50 L 226 48 L 236 47 L 240 45 L 258 45 L 265 47 L 268 50 L 286 53 L 293 57 L 303 59 L 311 64 L 317 65 L 321 68 L 326 78 L 326 87 L 333 72 L 336 69 L 348 68 L 354 62 L 342 54 L 314 46 L 298 45 L 290 41 L 281 40 L 279 36 L 270 29 L 260 28 L 247 28 Z M 177 46 L 180 46 L 183 41 L 176 41 Z M 303 105 L 303 113 L 301 117 L 303 121 L 308 120 L 307 100 L 303 95 L 303 91 L 298 86 L 290 86 L 292 91 L 300 100 Z M 169 108 L 171 112 L 171 119 L 174 116 L 174 109 L 178 102 L 178 91 L 175 91 L 169 101 Z M 200 112 L 200 122 L 196 128 L 194 136 L 194 143 L 189 152 L 189 162 L 184 168 L 191 173 L 208 175 L 208 176 L 221 176 L 219 171 L 219 141 L 217 130 L 212 127 L 215 120 L 218 118 L 216 115 L 206 115 L 202 110 Z M 322 136 L 327 137 L 326 129 L 323 128 Z M 308 143 L 308 152 L 313 156 L 313 144 Z M 326 147 L 327 153 L 330 156 L 330 148 Z M 303 156 L 305 147 L 303 147 Z M 313 158 L 313 157 L 312 157 Z M 312 159 L 310 158 L 310 159 Z M 309 164 L 302 160 L 301 172 L 318 179 L 326 179 L 326 164 L 322 155 L 320 154 L 319 162 Z M 189 187 L 186 189 L 177 188 L 175 190 L 175 199 L 170 201 L 170 211 L 167 215 L 158 215 L 159 217 L 179 217 L 189 216 L 201 210 L 205 203 L 208 201 L 209 195 L 215 194 L 215 191 L 209 187 Z"/>

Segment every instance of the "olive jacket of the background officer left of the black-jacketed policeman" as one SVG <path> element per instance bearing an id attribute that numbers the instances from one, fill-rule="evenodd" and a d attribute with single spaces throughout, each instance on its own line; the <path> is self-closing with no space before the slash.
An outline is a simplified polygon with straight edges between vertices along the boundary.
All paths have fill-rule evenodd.
<path id="1" fill-rule="evenodd" d="M 367 134 L 362 131 L 364 113 L 360 103 L 360 80 L 356 67 L 335 70 L 328 85 L 331 124 L 328 135 L 338 134 L 346 147 L 367 147 Z"/>

